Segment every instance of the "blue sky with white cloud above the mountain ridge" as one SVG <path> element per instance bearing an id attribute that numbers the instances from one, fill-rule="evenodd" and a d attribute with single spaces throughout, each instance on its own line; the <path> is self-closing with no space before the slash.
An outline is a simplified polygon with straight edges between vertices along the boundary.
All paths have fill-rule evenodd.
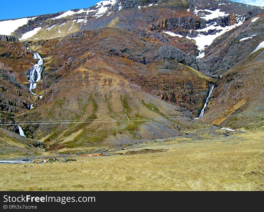
<path id="1" fill-rule="evenodd" d="M 75 8 L 86 8 L 100 0 L 12 0 L 1 1 L 0 20 L 36 16 Z M 264 0 L 233 0 L 244 4 L 264 6 Z"/>

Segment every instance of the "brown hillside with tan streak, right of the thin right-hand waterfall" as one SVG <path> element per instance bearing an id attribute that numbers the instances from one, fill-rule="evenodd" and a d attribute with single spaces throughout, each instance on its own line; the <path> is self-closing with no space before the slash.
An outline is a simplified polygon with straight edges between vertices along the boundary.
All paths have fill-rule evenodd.
<path id="1" fill-rule="evenodd" d="M 262 49 L 226 72 L 217 82 L 208 104 L 206 114 L 211 118 L 203 121 L 235 130 L 261 128 L 264 119 L 263 61 Z"/>

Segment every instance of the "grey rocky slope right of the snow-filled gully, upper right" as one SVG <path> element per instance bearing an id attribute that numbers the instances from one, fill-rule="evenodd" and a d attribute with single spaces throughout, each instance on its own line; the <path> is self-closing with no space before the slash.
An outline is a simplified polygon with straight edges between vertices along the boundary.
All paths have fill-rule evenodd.
<path id="1" fill-rule="evenodd" d="M 256 22 L 249 19 L 237 30 L 227 32 L 226 34 L 214 40 L 211 48 L 205 50 L 204 63 L 212 74 L 221 75 L 233 68 L 236 64 L 242 62 L 245 57 L 256 49 L 263 41 L 263 13 Z M 253 36 L 253 37 L 251 37 Z M 245 39 L 245 40 L 244 40 Z M 243 53 L 241 49 L 244 49 Z M 223 60 L 219 60 L 223 58 Z"/>

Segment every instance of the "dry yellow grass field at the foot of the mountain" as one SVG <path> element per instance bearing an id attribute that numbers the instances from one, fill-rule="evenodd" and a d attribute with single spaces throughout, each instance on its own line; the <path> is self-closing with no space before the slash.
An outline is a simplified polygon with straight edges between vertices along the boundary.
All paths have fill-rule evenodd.
<path id="1" fill-rule="evenodd" d="M 114 152 L 169 149 L 158 153 L 0 164 L 0 190 L 264 190 L 263 131 L 201 136 Z"/>

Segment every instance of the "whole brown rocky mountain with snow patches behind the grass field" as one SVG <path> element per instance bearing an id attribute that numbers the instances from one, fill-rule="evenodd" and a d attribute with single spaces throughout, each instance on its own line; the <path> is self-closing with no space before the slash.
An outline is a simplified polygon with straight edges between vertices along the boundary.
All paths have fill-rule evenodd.
<path id="1" fill-rule="evenodd" d="M 212 125 L 262 128 L 263 12 L 225 0 L 109 0 L 0 21 L 1 126 L 64 153 Z"/>

